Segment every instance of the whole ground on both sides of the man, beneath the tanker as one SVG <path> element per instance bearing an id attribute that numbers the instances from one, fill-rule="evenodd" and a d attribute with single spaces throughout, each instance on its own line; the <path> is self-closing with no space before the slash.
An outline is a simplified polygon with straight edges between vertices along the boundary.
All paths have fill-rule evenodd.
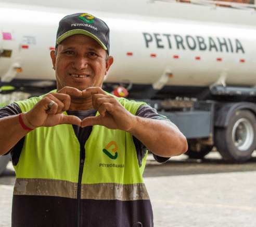
<path id="1" fill-rule="evenodd" d="M 256 154 L 246 163 L 221 160 L 211 152 L 204 160 L 186 155 L 158 164 L 149 155 L 144 181 L 155 227 L 256 226 Z M 0 227 L 10 226 L 15 173 L 9 163 L 0 177 Z"/>

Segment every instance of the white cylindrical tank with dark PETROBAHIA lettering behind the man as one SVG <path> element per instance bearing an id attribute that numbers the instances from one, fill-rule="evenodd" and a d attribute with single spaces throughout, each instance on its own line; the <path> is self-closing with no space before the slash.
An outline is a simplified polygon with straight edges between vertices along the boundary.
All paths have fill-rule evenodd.
<path id="1" fill-rule="evenodd" d="M 106 82 L 128 79 L 156 89 L 216 82 L 255 86 L 255 11 L 176 2 L 139 3 L 140 15 L 125 9 L 112 12 L 113 4 L 104 11 L 79 9 L 102 18 L 110 27 L 114 64 Z M 183 18 L 175 17 L 178 10 Z M 49 52 L 55 47 L 58 21 L 73 12 L 78 10 L 0 3 L 0 50 L 12 50 L 10 58 L 0 58 L 1 81 L 55 79 Z M 186 13 L 187 18 L 194 18 L 185 19 Z M 11 39 L 4 39 L 4 34 Z"/>

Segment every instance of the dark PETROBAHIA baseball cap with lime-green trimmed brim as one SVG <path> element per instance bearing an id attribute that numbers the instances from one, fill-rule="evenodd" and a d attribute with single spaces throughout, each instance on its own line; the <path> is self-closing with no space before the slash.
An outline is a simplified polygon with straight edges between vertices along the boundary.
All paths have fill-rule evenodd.
<path id="1" fill-rule="evenodd" d="M 109 27 L 89 13 L 74 13 L 62 18 L 57 31 L 56 48 L 71 35 L 83 34 L 94 38 L 109 54 Z"/>

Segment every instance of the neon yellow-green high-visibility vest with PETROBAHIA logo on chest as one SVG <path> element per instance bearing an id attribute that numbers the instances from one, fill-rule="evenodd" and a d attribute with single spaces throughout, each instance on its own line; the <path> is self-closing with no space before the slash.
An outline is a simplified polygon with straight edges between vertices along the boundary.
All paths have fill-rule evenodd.
<path id="1" fill-rule="evenodd" d="M 26 112 L 41 98 L 43 96 L 33 97 L 16 104 Z M 145 104 L 116 98 L 133 115 L 140 105 Z M 67 115 L 67 112 L 63 114 Z M 84 151 L 85 155 L 81 153 Z M 24 196 L 57 196 L 81 198 L 81 203 L 85 204 L 86 200 L 104 201 L 104 204 L 109 201 L 148 203 L 149 196 L 142 178 L 145 164 L 146 155 L 139 166 L 133 137 L 125 131 L 94 125 L 84 148 L 81 148 L 70 124 L 37 127 L 25 136 L 18 164 L 14 166 L 16 199 L 13 206 L 21 208 L 21 204 L 16 204 L 19 196 L 23 196 L 22 201 L 25 201 Z M 151 219 L 148 226 L 152 226 Z"/>

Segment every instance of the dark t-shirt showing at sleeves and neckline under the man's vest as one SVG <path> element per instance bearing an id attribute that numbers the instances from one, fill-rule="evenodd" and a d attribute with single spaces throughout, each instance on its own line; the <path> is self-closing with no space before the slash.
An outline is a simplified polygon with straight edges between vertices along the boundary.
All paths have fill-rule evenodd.
<path id="1" fill-rule="evenodd" d="M 12 116 L 12 115 L 18 115 L 21 113 L 20 107 L 12 103 L 10 105 L 6 105 L 3 108 L 0 109 L 0 118 Z M 93 117 L 96 115 L 97 110 L 91 109 L 86 111 L 71 111 L 67 110 L 68 115 L 74 115 L 79 117 L 81 120 L 83 120 L 86 117 Z M 138 108 L 136 112 L 136 116 L 144 117 L 144 118 L 150 118 L 150 119 L 158 119 L 158 120 L 166 120 L 170 121 L 169 119 L 163 117 L 162 115 L 159 115 L 156 111 L 156 109 L 151 108 L 148 105 L 142 105 Z M 76 137 L 78 137 L 79 143 L 81 146 L 84 147 L 86 140 L 88 139 L 89 135 L 92 132 L 93 126 L 86 126 L 86 127 L 80 127 L 78 125 L 72 125 Z M 23 137 L 8 153 L 10 153 L 12 164 L 17 165 L 20 157 L 20 153 L 24 144 L 24 138 Z M 147 148 L 142 144 L 136 137 L 133 136 L 133 141 L 136 147 L 137 152 L 137 158 L 139 166 L 142 163 L 142 159 L 145 157 L 145 154 L 147 152 Z M 6 153 L 6 154 L 8 154 Z M 170 158 L 164 158 L 159 157 L 158 155 L 153 154 L 153 157 L 157 162 L 163 163 L 168 161 Z"/>

